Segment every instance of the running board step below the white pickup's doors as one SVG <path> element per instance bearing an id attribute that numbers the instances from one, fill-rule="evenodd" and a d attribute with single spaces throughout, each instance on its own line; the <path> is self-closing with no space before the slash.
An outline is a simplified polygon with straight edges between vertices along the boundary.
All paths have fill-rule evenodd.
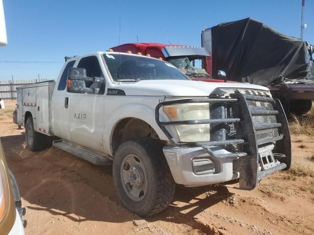
<path id="1" fill-rule="evenodd" d="M 78 156 L 92 164 L 95 165 L 111 165 L 112 160 L 110 157 L 106 156 L 104 153 L 93 150 L 91 148 L 84 147 L 77 143 L 66 141 L 66 140 L 57 140 L 53 141 L 52 145 L 54 147 L 60 148 L 68 153 Z"/>

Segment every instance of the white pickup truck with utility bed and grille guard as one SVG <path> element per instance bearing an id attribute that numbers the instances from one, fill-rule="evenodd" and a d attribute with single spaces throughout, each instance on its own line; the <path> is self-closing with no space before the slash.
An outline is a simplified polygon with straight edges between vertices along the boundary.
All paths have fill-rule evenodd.
<path id="1" fill-rule="evenodd" d="M 66 57 L 56 81 L 18 88 L 17 97 L 15 122 L 31 151 L 54 139 L 93 164 L 112 164 L 122 204 L 141 216 L 167 208 L 176 183 L 238 179 L 253 189 L 291 163 L 287 118 L 267 88 L 191 81 L 147 56 Z"/>

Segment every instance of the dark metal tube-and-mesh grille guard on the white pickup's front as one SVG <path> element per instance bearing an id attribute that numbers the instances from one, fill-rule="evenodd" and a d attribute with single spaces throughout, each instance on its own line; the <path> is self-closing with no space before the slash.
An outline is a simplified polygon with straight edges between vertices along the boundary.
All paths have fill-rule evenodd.
<path id="1" fill-rule="evenodd" d="M 239 172 L 239 187 L 251 190 L 256 187 L 257 183 L 262 180 L 263 177 L 279 170 L 288 170 L 290 168 L 291 142 L 288 121 L 279 99 L 240 93 L 231 94 L 230 96 L 231 98 L 195 98 L 164 101 L 157 105 L 155 118 L 160 129 L 174 146 L 202 147 L 213 159 L 234 159 L 234 171 Z M 255 107 L 252 106 L 252 102 L 256 104 Z M 233 117 L 228 118 L 226 112 L 221 112 L 221 115 L 218 115 L 219 118 L 217 118 L 218 116 L 215 115 L 215 113 L 210 113 L 210 119 L 203 120 L 166 122 L 159 120 L 159 110 L 161 107 L 186 103 L 209 103 L 209 105 L 215 105 L 218 108 L 223 107 L 225 110 L 227 110 L 227 107 L 232 107 Z M 270 123 L 270 116 L 276 117 L 276 121 Z M 256 121 L 256 118 L 260 117 L 265 120 L 265 123 L 258 123 Z M 212 141 L 178 142 L 166 128 L 166 126 L 171 125 L 193 124 L 211 124 L 210 129 L 212 129 L 212 126 L 217 129 L 218 126 L 222 127 L 221 130 L 226 128 L 228 124 L 232 124 L 237 131 L 234 139 L 221 138 L 223 135 L 220 133 L 218 136 L 213 135 L 216 140 Z M 269 133 L 272 133 L 274 136 L 269 137 Z M 215 134 L 217 134 L 217 131 Z M 210 139 L 211 138 L 212 133 L 210 134 Z M 270 151 L 271 159 L 274 161 L 271 162 L 271 159 L 268 159 L 268 161 L 266 158 L 266 162 L 262 162 L 259 148 L 270 144 L 274 144 L 274 149 Z M 218 155 L 213 153 L 210 149 L 212 146 L 221 146 L 226 149 L 228 148 L 229 151 L 232 145 L 236 145 L 238 148 L 229 154 Z"/>

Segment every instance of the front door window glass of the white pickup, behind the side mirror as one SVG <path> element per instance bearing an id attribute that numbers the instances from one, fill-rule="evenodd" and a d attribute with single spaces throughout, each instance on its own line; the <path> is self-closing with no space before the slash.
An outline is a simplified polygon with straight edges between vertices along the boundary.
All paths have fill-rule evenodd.
<path id="1" fill-rule="evenodd" d="M 97 56 L 92 55 L 80 59 L 77 68 L 85 68 L 86 76 L 88 77 L 104 77 Z M 99 94 L 105 93 L 105 80 L 103 84 L 87 81 L 85 86 L 88 88 L 100 88 Z"/>

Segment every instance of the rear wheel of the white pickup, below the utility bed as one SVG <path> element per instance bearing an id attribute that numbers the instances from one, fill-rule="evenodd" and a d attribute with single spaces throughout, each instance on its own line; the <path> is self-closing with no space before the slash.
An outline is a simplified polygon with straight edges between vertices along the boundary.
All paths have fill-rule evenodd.
<path id="1" fill-rule="evenodd" d="M 25 138 L 30 151 L 40 151 L 46 148 L 46 135 L 34 130 L 33 118 L 29 117 L 25 124 Z"/>

